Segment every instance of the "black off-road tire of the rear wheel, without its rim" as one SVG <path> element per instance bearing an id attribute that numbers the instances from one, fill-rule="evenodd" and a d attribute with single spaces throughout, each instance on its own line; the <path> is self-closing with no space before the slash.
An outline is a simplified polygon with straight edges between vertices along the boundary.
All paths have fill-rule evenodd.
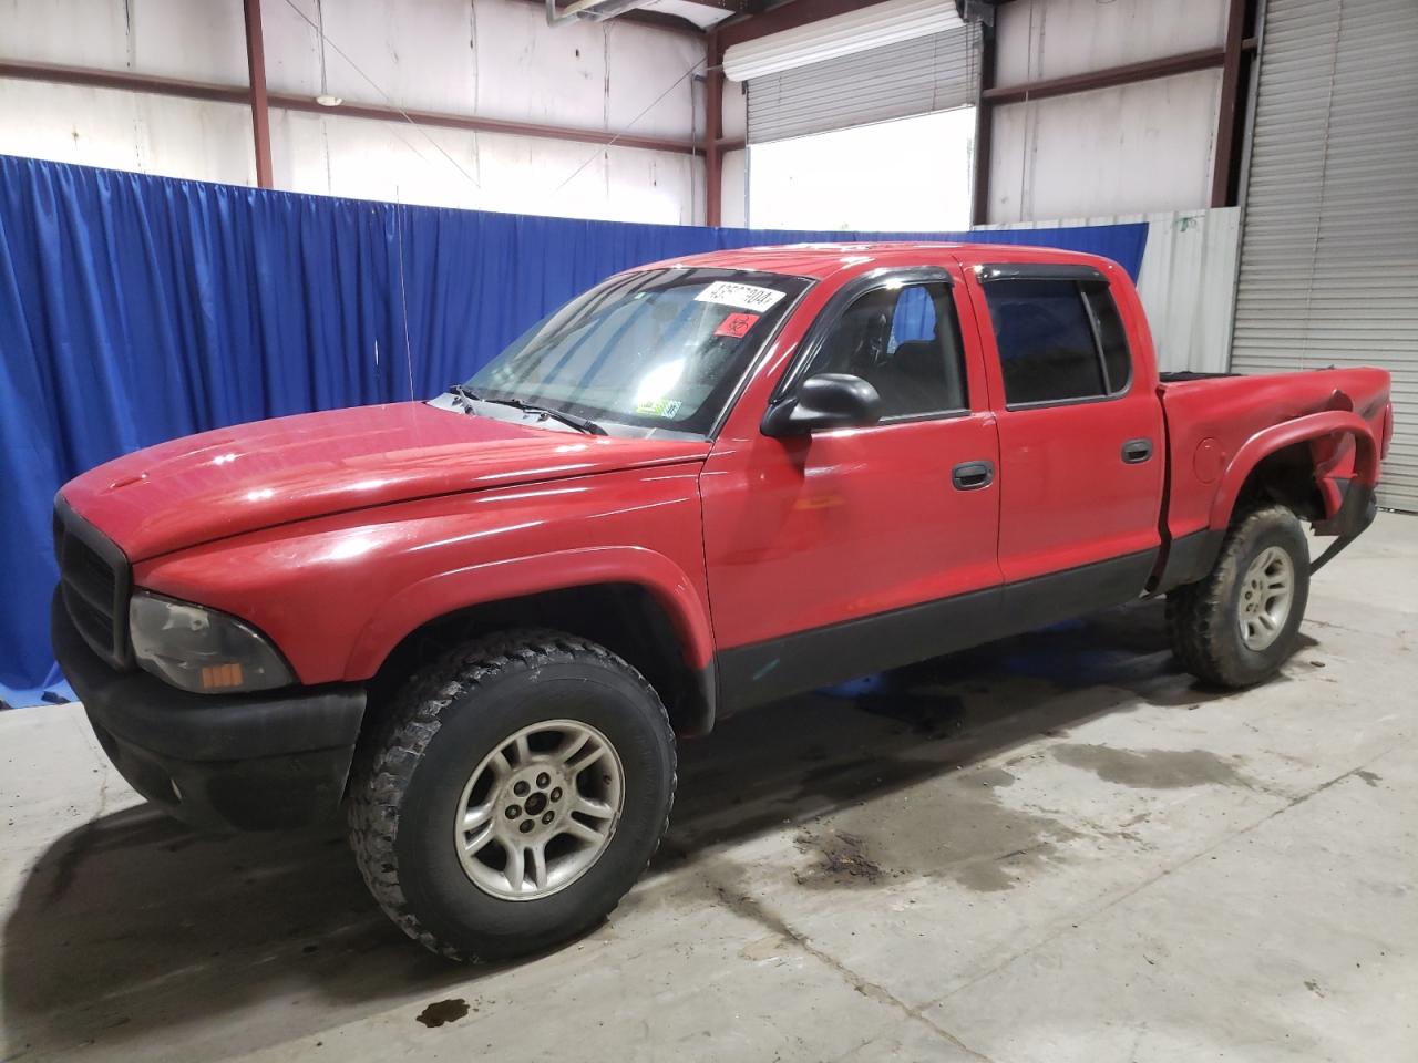
<path id="1" fill-rule="evenodd" d="M 1241 584 L 1251 563 L 1269 547 L 1289 554 L 1295 590 L 1280 634 L 1255 651 L 1241 638 Z M 1261 506 L 1238 517 L 1207 577 L 1167 594 L 1167 626 L 1183 668 L 1202 682 L 1232 689 L 1273 676 L 1295 652 L 1309 598 L 1309 557 L 1305 532 L 1288 507 Z"/>

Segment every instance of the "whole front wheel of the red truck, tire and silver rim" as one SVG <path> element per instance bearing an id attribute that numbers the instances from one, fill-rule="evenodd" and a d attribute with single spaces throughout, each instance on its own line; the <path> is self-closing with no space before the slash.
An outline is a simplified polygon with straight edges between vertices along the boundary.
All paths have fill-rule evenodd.
<path id="1" fill-rule="evenodd" d="M 398 694 L 349 798 L 374 899 L 454 960 L 545 950 L 603 920 L 665 832 L 674 733 L 641 675 L 557 632 L 469 643 Z"/>

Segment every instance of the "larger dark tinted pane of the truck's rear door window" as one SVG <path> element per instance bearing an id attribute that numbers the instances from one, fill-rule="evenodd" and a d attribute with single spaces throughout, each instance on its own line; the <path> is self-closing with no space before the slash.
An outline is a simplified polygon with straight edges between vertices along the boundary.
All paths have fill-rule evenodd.
<path id="1" fill-rule="evenodd" d="M 1093 326 L 1076 283 L 997 281 L 984 291 L 1008 404 L 1107 394 Z"/>

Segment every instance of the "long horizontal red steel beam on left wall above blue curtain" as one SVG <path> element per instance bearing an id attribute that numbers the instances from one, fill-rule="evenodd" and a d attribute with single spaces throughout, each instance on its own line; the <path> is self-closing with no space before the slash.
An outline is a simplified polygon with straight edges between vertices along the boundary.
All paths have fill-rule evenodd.
<path id="1" fill-rule="evenodd" d="M 211 85 L 174 78 L 155 78 L 146 74 L 126 71 L 89 69 L 84 67 L 54 67 L 47 64 L 0 61 L 0 78 L 23 81 L 45 81 L 57 85 L 84 85 L 89 88 L 122 89 L 125 92 L 150 92 L 160 96 L 183 99 L 207 99 L 217 103 L 248 103 L 251 91 L 227 85 Z M 617 147 L 638 147 L 647 152 L 669 152 L 674 154 L 700 154 L 703 147 L 692 140 L 676 140 L 662 136 L 604 133 L 596 129 L 569 129 L 545 126 L 530 122 L 505 122 L 496 118 L 475 118 L 472 115 L 448 115 L 437 111 L 398 111 L 397 108 L 367 103 L 342 103 L 325 108 L 306 96 L 291 96 L 281 92 L 267 94 L 267 105 L 282 111 L 305 111 L 316 115 L 343 115 L 366 118 L 379 122 L 406 122 L 440 126 L 444 129 L 467 129 L 478 133 L 509 133 L 512 136 L 533 136 L 543 140 L 574 140 L 588 145 L 607 145 L 614 137 Z"/>

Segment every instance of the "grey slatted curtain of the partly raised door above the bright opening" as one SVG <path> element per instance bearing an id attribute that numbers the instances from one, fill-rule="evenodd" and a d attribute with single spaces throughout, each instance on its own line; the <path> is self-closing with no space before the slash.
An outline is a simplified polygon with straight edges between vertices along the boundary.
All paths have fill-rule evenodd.
<path id="1" fill-rule="evenodd" d="M 749 81 L 749 143 L 976 102 L 980 27 L 869 48 Z"/>

